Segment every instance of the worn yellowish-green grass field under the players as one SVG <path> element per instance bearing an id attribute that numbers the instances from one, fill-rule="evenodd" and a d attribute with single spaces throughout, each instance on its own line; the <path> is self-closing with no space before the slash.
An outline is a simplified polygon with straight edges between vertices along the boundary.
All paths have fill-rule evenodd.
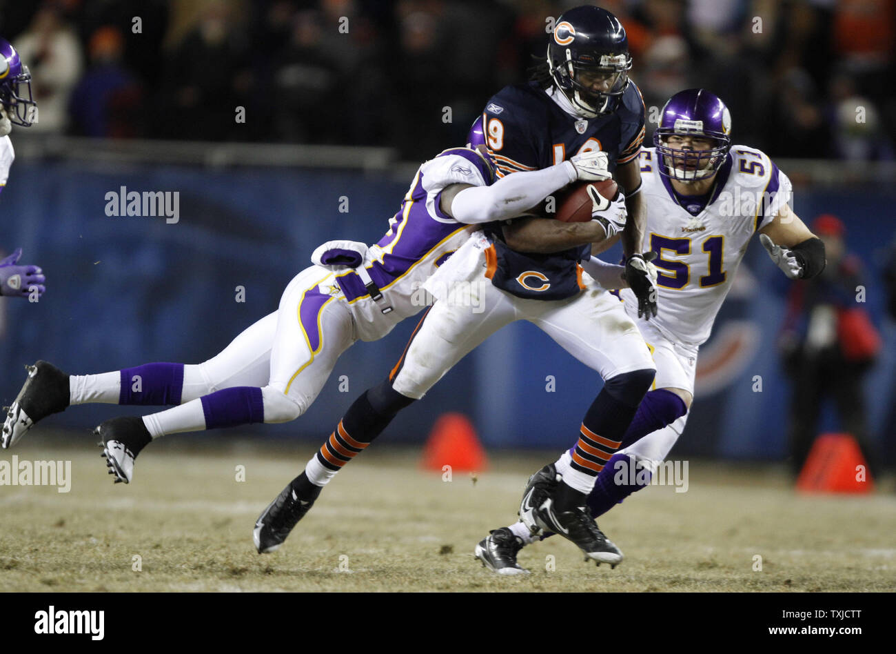
<path id="1" fill-rule="evenodd" d="M 418 450 L 372 448 L 324 490 L 279 552 L 261 556 L 254 519 L 312 444 L 200 448 L 172 439 L 144 450 L 125 485 L 112 484 L 90 437 L 76 439 L 79 447 L 61 446 L 34 433 L 0 455 L 72 461 L 69 493 L 0 486 L 0 589 L 896 590 L 891 484 L 871 496 L 806 497 L 782 468 L 691 461 L 686 493 L 653 486 L 599 521 L 625 553 L 616 570 L 586 565 L 555 536 L 521 553 L 532 574 L 502 578 L 480 566 L 473 547 L 515 518 L 527 476 L 553 453 L 493 453 L 474 483 L 468 473 L 444 482 L 421 470 Z"/>

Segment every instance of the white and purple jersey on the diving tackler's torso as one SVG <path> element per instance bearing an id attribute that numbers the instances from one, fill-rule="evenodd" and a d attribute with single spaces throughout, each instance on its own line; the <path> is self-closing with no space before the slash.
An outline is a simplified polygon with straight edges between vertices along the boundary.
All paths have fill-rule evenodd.
<path id="1" fill-rule="evenodd" d="M 426 307 L 423 282 L 477 229 L 458 222 L 439 208 L 440 194 L 452 184 L 487 186 L 492 170 L 481 154 L 452 148 L 420 166 L 389 231 L 367 250 L 364 267 L 383 292 L 374 301 L 354 270 L 335 281 L 355 319 L 356 336 L 373 341 L 388 334 L 404 318 Z M 386 313 L 383 309 L 391 307 Z"/>

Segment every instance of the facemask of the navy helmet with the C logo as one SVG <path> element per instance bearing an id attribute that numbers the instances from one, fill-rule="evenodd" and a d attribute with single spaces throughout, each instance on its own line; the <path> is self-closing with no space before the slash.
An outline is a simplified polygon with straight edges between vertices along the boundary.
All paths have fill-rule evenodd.
<path id="1" fill-rule="evenodd" d="M 582 56 L 573 60 L 570 48 L 565 50 L 563 63 L 553 65 L 550 48 L 547 66 L 560 91 L 582 111 L 587 118 L 597 118 L 616 110 L 619 100 L 628 87 L 628 71 L 632 57 L 628 54 Z M 595 90 L 599 86 L 606 91 Z"/>

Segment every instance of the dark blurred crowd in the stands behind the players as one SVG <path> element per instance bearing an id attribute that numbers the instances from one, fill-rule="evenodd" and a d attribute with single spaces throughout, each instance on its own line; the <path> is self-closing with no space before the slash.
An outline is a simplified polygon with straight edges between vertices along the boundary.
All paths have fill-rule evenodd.
<path id="1" fill-rule="evenodd" d="M 464 142 L 527 79 L 550 0 L 0 1 L 34 77 L 34 131 L 114 138 L 388 145 Z M 604 0 L 648 120 L 716 92 L 735 141 L 771 156 L 889 161 L 896 0 Z M 245 108 L 245 122 L 237 108 Z M 649 128 L 650 129 L 650 128 Z"/>

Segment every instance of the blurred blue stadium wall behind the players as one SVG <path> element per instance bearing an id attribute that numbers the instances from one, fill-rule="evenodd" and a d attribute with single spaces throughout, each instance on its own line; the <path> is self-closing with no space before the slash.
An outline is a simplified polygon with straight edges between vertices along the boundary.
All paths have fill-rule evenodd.
<path id="1" fill-rule="evenodd" d="M 201 362 L 272 310 L 280 292 L 324 240 L 374 242 L 407 190 L 407 179 L 348 170 L 195 166 L 90 161 L 17 161 L 0 197 L 2 247 L 25 250 L 47 274 L 36 304 L 0 303 L 0 398 L 8 404 L 39 358 L 65 371 L 116 370 L 142 362 Z M 109 191 L 179 192 L 179 220 L 110 217 Z M 340 197 L 349 211 L 340 213 Z M 866 262 L 867 308 L 885 340 L 867 379 L 869 422 L 879 441 L 893 435 L 896 326 L 883 316 L 884 246 L 896 224 L 896 195 L 875 190 L 798 189 L 797 214 L 838 214 L 849 249 Z M 786 284 L 758 244 L 751 245 L 711 340 L 701 352 L 697 397 L 677 455 L 776 459 L 786 452 L 788 381 L 775 340 Z M 237 286 L 245 301 L 237 302 Z M 312 409 L 294 423 L 254 426 L 259 438 L 320 439 L 364 388 L 382 380 L 415 326 L 411 318 L 376 344 L 347 352 Z M 754 392 L 761 376 L 762 392 Z M 554 392 L 548 392 L 553 376 Z M 348 382 L 348 383 L 346 383 Z M 560 448 L 573 442 L 599 389 L 597 375 L 528 324 L 488 339 L 383 440 L 422 441 L 445 411 L 470 415 L 494 448 Z M 340 392 L 341 388 L 348 388 Z M 85 406 L 52 419 L 83 430 L 120 413 Z M 49 423 L 49 421 L 47 421 Z M 835 428 L 832 414 L 825 429 Z M 208 432 L 203 438 L 215 438 Z M 883 444 L 883 443 L 882 443 Z M 892 448 L 892 445 L 890 445 Z"/>

